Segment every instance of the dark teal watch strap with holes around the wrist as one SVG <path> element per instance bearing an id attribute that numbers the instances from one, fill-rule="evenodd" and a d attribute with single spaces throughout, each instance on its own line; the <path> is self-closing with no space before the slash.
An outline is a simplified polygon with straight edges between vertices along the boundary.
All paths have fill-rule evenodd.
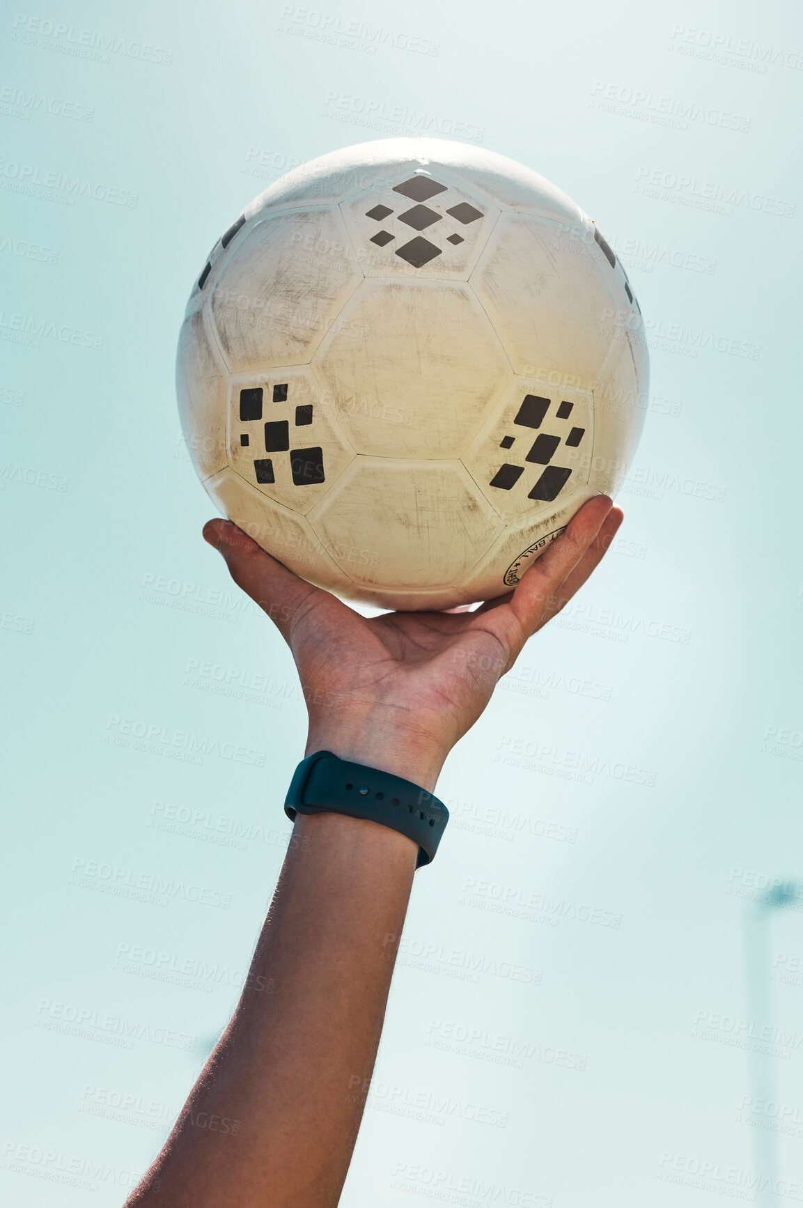
<path id="1" fill-rule="evenodd" d="M 442 801 L 412 780 L 380 772 L 365 763 L 350 763 L 331 751 L 315 751 L 293 773 L 285 813 L 348 814 L 382 823 L 418 843 L 415 867 L 430 864 L 449 820 Z"/>

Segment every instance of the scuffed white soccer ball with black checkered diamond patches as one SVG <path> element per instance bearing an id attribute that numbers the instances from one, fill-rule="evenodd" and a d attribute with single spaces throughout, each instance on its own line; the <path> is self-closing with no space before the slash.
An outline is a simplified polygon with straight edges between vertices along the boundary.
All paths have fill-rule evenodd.
<path id="1" fill-rule="evenodd" d="M 215 244 L 179 338 L 194 466 L 291 570 L 380 608 L 500 596 L 645 412 L 619 260 L 529 168 L 441 139 L 321 156 Z"/>

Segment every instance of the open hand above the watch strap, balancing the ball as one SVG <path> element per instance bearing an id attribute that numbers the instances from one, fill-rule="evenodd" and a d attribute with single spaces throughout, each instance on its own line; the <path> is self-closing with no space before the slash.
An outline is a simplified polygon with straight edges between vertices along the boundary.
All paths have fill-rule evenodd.
<path id="1" fill-rule="evenodd" d="M 331 750 L 431 791 L 499 678 L 586 582 L 621 522 L 619 509 L 597 495 L 507 596 L 476 611 L 370 620 L 293 575 L 231 521 L 209 521 L 204 538 L 290 646 L 309 713 L 307 754 Z"/>

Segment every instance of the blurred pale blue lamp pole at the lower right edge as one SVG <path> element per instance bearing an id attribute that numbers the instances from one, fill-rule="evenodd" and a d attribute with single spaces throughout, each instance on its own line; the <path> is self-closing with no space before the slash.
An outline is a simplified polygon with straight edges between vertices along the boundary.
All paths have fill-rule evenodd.
<path id="1" fill-rule="evenodd" d="M 786 906 L 795 899 L 796 887 L 792 882 L 774 885 L 756 901 L 747 902 L 744 914 L 745 949 L 745 999 L 747 1017 L 753 1022 L 758 1035 L 767 1028 L 767 1035 L 773 1032 L 773 989 L 770 975 L 770 935 L 773 912 Z M 767 1043 L 767 1052 L 761 1052 L 761 1044 L 749 1050 L 750 1091 L 753 1111 L 760 1102 L 776 1103 L 775 1058 L 773 1041 Z M 767 1123 L 772 1122 L 766 1117 Z M 778 1133 L 769 1127 L 752 1126 L 753 1174 L 758 1180 L 756 1204 L 758 1208 L 770 1208 L 778 1203 L 774 1187 L 778 1185 Z"/>

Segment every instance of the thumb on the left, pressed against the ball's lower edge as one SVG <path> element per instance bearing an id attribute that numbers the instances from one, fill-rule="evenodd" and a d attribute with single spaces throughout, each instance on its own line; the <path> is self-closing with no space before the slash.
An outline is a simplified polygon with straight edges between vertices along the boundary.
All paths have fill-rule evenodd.
<path id="1" fill-rule="evenodd" d="M 237 586 L 267 612 L 284 638 L 287 638 L 299 606 L 310 597 L 324 594 L 319 587 L 293 575 L 292 570 L 266 553 L 231 521 L 208 521 L 204 540 L 222 553 Z"/>

